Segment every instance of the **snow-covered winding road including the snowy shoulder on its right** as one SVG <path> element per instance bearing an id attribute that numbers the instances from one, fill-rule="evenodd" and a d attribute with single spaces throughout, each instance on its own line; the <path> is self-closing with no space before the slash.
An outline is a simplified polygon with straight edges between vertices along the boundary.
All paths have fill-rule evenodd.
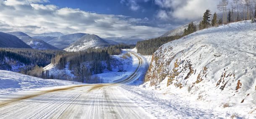
<path id="1" fill-rule="evenodd" d="M 137 84 L 146 58 L 128 50 L 133 71 L 115 83 L 47 87 L 0 95 L 0 119 L 224 119 L 230 114 L 199 109 L 179 96 Z M 166 97 L 164 99 L 163 97 Z"/>

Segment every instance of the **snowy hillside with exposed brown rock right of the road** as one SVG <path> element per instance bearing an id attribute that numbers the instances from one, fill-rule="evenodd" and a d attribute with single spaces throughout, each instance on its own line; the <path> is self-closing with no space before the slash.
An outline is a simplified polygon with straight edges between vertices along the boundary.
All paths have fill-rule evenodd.
<path id="1" fill-rule="evenodd" d="M 145 81 L 202 108 L 255 119 L 256 23 L 207 28 L 164 44 Z"/>

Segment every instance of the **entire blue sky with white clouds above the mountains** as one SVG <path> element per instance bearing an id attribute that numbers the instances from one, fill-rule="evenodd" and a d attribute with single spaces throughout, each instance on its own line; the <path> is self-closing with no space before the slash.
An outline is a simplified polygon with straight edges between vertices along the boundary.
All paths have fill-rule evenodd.
<path id="1" fill-rule="evenodd" d="M 216 11 L 218 0 L 0 0 L 0 31 L 144 40 Z"/>

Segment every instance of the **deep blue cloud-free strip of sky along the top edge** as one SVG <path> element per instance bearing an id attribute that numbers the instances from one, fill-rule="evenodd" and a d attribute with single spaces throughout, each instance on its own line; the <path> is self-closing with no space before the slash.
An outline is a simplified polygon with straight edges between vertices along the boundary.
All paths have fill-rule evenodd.
<path id="1" fill-rule="evenodd" d="M 131 10 L 127 2 L 120 0 L 50 0 L 51 4 L 59 7 L 79 8 L 81 10 L 100 14 L 126 15 L 133 18 L 154 18 L 158 6 L 152 1 L 138 2 L 138 10 Z"/>

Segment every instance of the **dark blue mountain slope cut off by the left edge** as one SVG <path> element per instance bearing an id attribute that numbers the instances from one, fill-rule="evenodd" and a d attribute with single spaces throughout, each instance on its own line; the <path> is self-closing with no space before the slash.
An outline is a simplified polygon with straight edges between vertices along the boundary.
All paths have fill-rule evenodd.
<path id="1" fill-rule="evenodd" d="M 0 48 L 31 48 L 14 35 L 0 32 Z"/>

